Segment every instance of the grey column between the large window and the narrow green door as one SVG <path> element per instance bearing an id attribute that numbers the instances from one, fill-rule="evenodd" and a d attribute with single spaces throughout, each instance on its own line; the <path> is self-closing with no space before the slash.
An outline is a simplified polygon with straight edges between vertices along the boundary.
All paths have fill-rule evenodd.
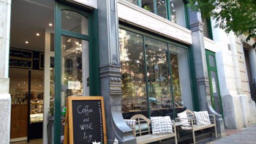
<path id="1" fill-rule="evenodd" d="M 211 91 L 208 80 L 208 69 L 206 61 L 206 50 L 203 39 L 203 23 L 200 12 L 193 12 L 189 9 L 189 28 L 192 31 L 192 53 L 195 63 L 195 79 L 200 110 L 208 110 L 208 113 L 216 116 L 217 132 L 225 135 L 225 127 L 222 115 L 217 113 L 211 105 Z"/>

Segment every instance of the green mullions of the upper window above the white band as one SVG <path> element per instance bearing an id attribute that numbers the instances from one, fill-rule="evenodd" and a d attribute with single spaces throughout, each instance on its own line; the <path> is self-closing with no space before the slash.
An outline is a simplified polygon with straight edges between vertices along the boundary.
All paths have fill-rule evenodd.
<path id="1" fill-rule="evenodd" d="M 138 7 L 142 7 L 142 3 L 141 3 L 142 0 L 137 0 L 137 5 Z M 182 1 L 182 3 L 184 4 L 184 18 L 185 18 L 185 23 L 186 23 L 186 28 L 189 29 L 189 17 L 188 17 L 188 11 L 187 11 L 187 1 L 185 0 L 180 0 Z M 157 0 L 153 0 L 154 2 L 154 14 L 157 15 Z M 170 0 L 165 0 L 165 3 L 166 3 L 166 12 L 167 12 L 167 20 L 171 20 L 171 10 L 170 10 Z"/>

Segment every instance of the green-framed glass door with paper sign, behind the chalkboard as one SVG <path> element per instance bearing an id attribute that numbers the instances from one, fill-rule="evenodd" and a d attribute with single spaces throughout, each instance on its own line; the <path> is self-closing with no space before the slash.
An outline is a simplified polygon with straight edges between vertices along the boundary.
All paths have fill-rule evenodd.
<path id="1" fill-rule="evenodd" d="M 86 10 L 60 2 L 56 2 L 55 16 L 54 143 L 62 143 L 61 120 L 65 118 L 67 96 L 92 94 L 90 79 L 93 77 L 89 72 L 92 20 Z"/>

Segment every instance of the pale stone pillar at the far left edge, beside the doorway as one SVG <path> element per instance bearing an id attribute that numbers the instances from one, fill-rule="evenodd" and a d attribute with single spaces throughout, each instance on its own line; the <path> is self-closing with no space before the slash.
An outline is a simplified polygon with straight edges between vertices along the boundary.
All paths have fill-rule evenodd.
<path id="1" fill-rule="evenodd" d="M 10 143 L 11 97 L 9 94 L 11 0 L 0 0 L 0 143 Z"/>

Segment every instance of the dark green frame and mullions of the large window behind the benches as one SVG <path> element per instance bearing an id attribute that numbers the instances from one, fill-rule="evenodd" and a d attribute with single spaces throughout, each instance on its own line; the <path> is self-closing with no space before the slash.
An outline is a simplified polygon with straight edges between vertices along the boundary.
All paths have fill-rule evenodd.
<path id="1" fill-rule="evenodd" d="M 179 48 L 184 48 L 187 50 L 187 58 L 188 58 L 188 67 L 189 67 L 189 82 L 190 82 L 190 89 L 191 89 L 191 94 L 192 94 L 192 107 L 194 110 L 199 110 L 199 105 L 198 105 L 198 96 L 197 96 L 197 88 L 196 88 L 196 82 L 195 80 L 193 80 L 192 75 L 195 75 L 195 72 L 193 69 L 195 69 L 194 67 L 192 67 L 193 65 L 193 61 L 192 60 L 192 50 L 189 50 L 189 46 L 188 45 L 183 45 L 183 44 L 179 44 L 177 42 L 173 42 L 169 39 L 165 39 L 162 38 L 161 36 L 157 37 L 153 34 L 148 34 L 147 31 L 143 31 L 143 30 L 138 30 L 135 28 L 131 28 L 129 26 L 125 26 L 125 24 L 121 24 L 119 23 L 119 29 L 124 29 L 126 31 L 131 31 L 135 34 L 140 34 L 143 36 L 143 55 L 144 55 L 144 62 L 146 64 L 146 42 L 145 42 L 145 37 L 151 38 L 151 39 L 156 39 L 159 40 L 160 42 L 165 42 L 167 43 L 167 62 L 168 62 L 168 66 L 169 66 L 169 71 L 170 71 L 170 75 L 172 74 L 172 69 L 170 67 L 170 50 L 169 50 L 169 45 L 174 45 L 177 46 Z M 147 76 L 147 67 L 145 65 L 145 75 L 146 75 L 146 97 L 147 97 L 147 108 L 148 108 L 148 118 L 151 115 L 151 107 L 149 105 L 149 96 L 148 96 L 148 76 Z M 172 95 L 172 99 L 174 99 L 174 95 L 173 95 L 173 77 L 170 77 L 170 91 L 171 91 L 171 95 Z M 173 118 L 176 118 L 176 110 L 175 110 L 175 102 L 173 100 Z"/>

